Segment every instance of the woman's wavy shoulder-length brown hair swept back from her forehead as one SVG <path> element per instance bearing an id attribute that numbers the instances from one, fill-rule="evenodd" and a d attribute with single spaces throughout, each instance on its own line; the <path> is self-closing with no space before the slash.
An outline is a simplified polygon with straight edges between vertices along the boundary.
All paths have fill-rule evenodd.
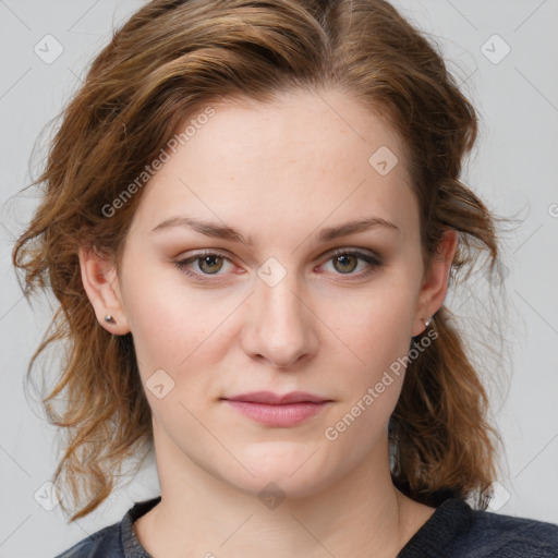
<path id="1" fill-rule="evenodd" d="M 53 480 L 63 480 L 77 502 L 72 521 L 110 495 L 114 473 L 128 459 L 153 448 L 132 335 L 113 336 L 99 325 L 82 283 L 78 250 L 95 250 L 120 265 L 143 189 L 118 210 L 114 201 L 122 201 L 126 186 L 130 193 L 186 118 L 219 100 L 268 102 L 284 92 L 323 88 L 351 95 L 402 138 L 420 204 L 425 269 L 448 229 L 459 240 L 451 280 L 461 268 L 472 269 L 481 254 L 494 267 L 495 217 L 459 180 L 477 136 L 475 110 L 439 47 L 391 4 L 146 3 L 113 33 L 60 114 L 46 166 L 29 184 L 44 187 L 41 202 L 12 253 L 25 295 L 52 291 L 59 302 L 27 372 L 47 347 L 64 344 L 62 372 L 43 403 L 51 424 L 66 434 Z M 486 509 L 499 436 L 452 322 L 442 305 L 429 326 L 436 341 L 407 368 L 389 422 L 391 475 L 415 501 L 437 506 L 459 497 Z"/>

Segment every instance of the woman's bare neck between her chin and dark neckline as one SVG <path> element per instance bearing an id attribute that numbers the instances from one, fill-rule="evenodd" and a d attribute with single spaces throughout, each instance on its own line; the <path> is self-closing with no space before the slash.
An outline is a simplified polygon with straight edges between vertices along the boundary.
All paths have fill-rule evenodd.
<path id="1" fill-rule="evenodd" d="M 277 505 L 208 474 L 166 440 L 156 447 L 161 501 L 134 530 L 153 556 L 392 558 L 434 509 L 396 489 L 387 452 L 386 441 L 338 482 Z"/>

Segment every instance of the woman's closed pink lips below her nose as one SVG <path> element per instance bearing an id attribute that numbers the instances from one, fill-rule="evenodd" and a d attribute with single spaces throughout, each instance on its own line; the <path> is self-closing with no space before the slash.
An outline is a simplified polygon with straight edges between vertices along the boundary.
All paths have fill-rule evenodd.
<path id="1" fill-rule="evenodd" d="M 331 400 L 312 393 L 293 391 L 279 396 L 271 391 L 254 391 L 225 398 L 243 415 L 267 426 L 287 427 L 317 415 Z"/>

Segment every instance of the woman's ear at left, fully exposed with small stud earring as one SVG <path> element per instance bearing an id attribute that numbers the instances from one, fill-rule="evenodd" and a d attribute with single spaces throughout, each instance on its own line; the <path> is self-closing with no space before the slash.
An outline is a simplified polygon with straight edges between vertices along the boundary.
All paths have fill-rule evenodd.
<path id="1" fill-rule="evenodd" d="M 83 287 L 100 325 L 110 333 L 130 332 L 114 263 L 93 247 L 81 247 L 78 255 Z M 113 322 L 107 322 L 107 315 L 112 316 Z"/>

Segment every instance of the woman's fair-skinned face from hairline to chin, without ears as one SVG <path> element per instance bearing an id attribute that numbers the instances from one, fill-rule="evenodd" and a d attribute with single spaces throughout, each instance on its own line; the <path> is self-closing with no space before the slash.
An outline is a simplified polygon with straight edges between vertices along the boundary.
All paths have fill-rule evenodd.
<path id="1" fill-rule="evenodd" d="M 156 448 L 311 494 L 385 459 L 403 374 L 374 388 L 428 317 L 403 146 L 340 92 L 211 106 L 145 186 L 119 277 Z"/>

